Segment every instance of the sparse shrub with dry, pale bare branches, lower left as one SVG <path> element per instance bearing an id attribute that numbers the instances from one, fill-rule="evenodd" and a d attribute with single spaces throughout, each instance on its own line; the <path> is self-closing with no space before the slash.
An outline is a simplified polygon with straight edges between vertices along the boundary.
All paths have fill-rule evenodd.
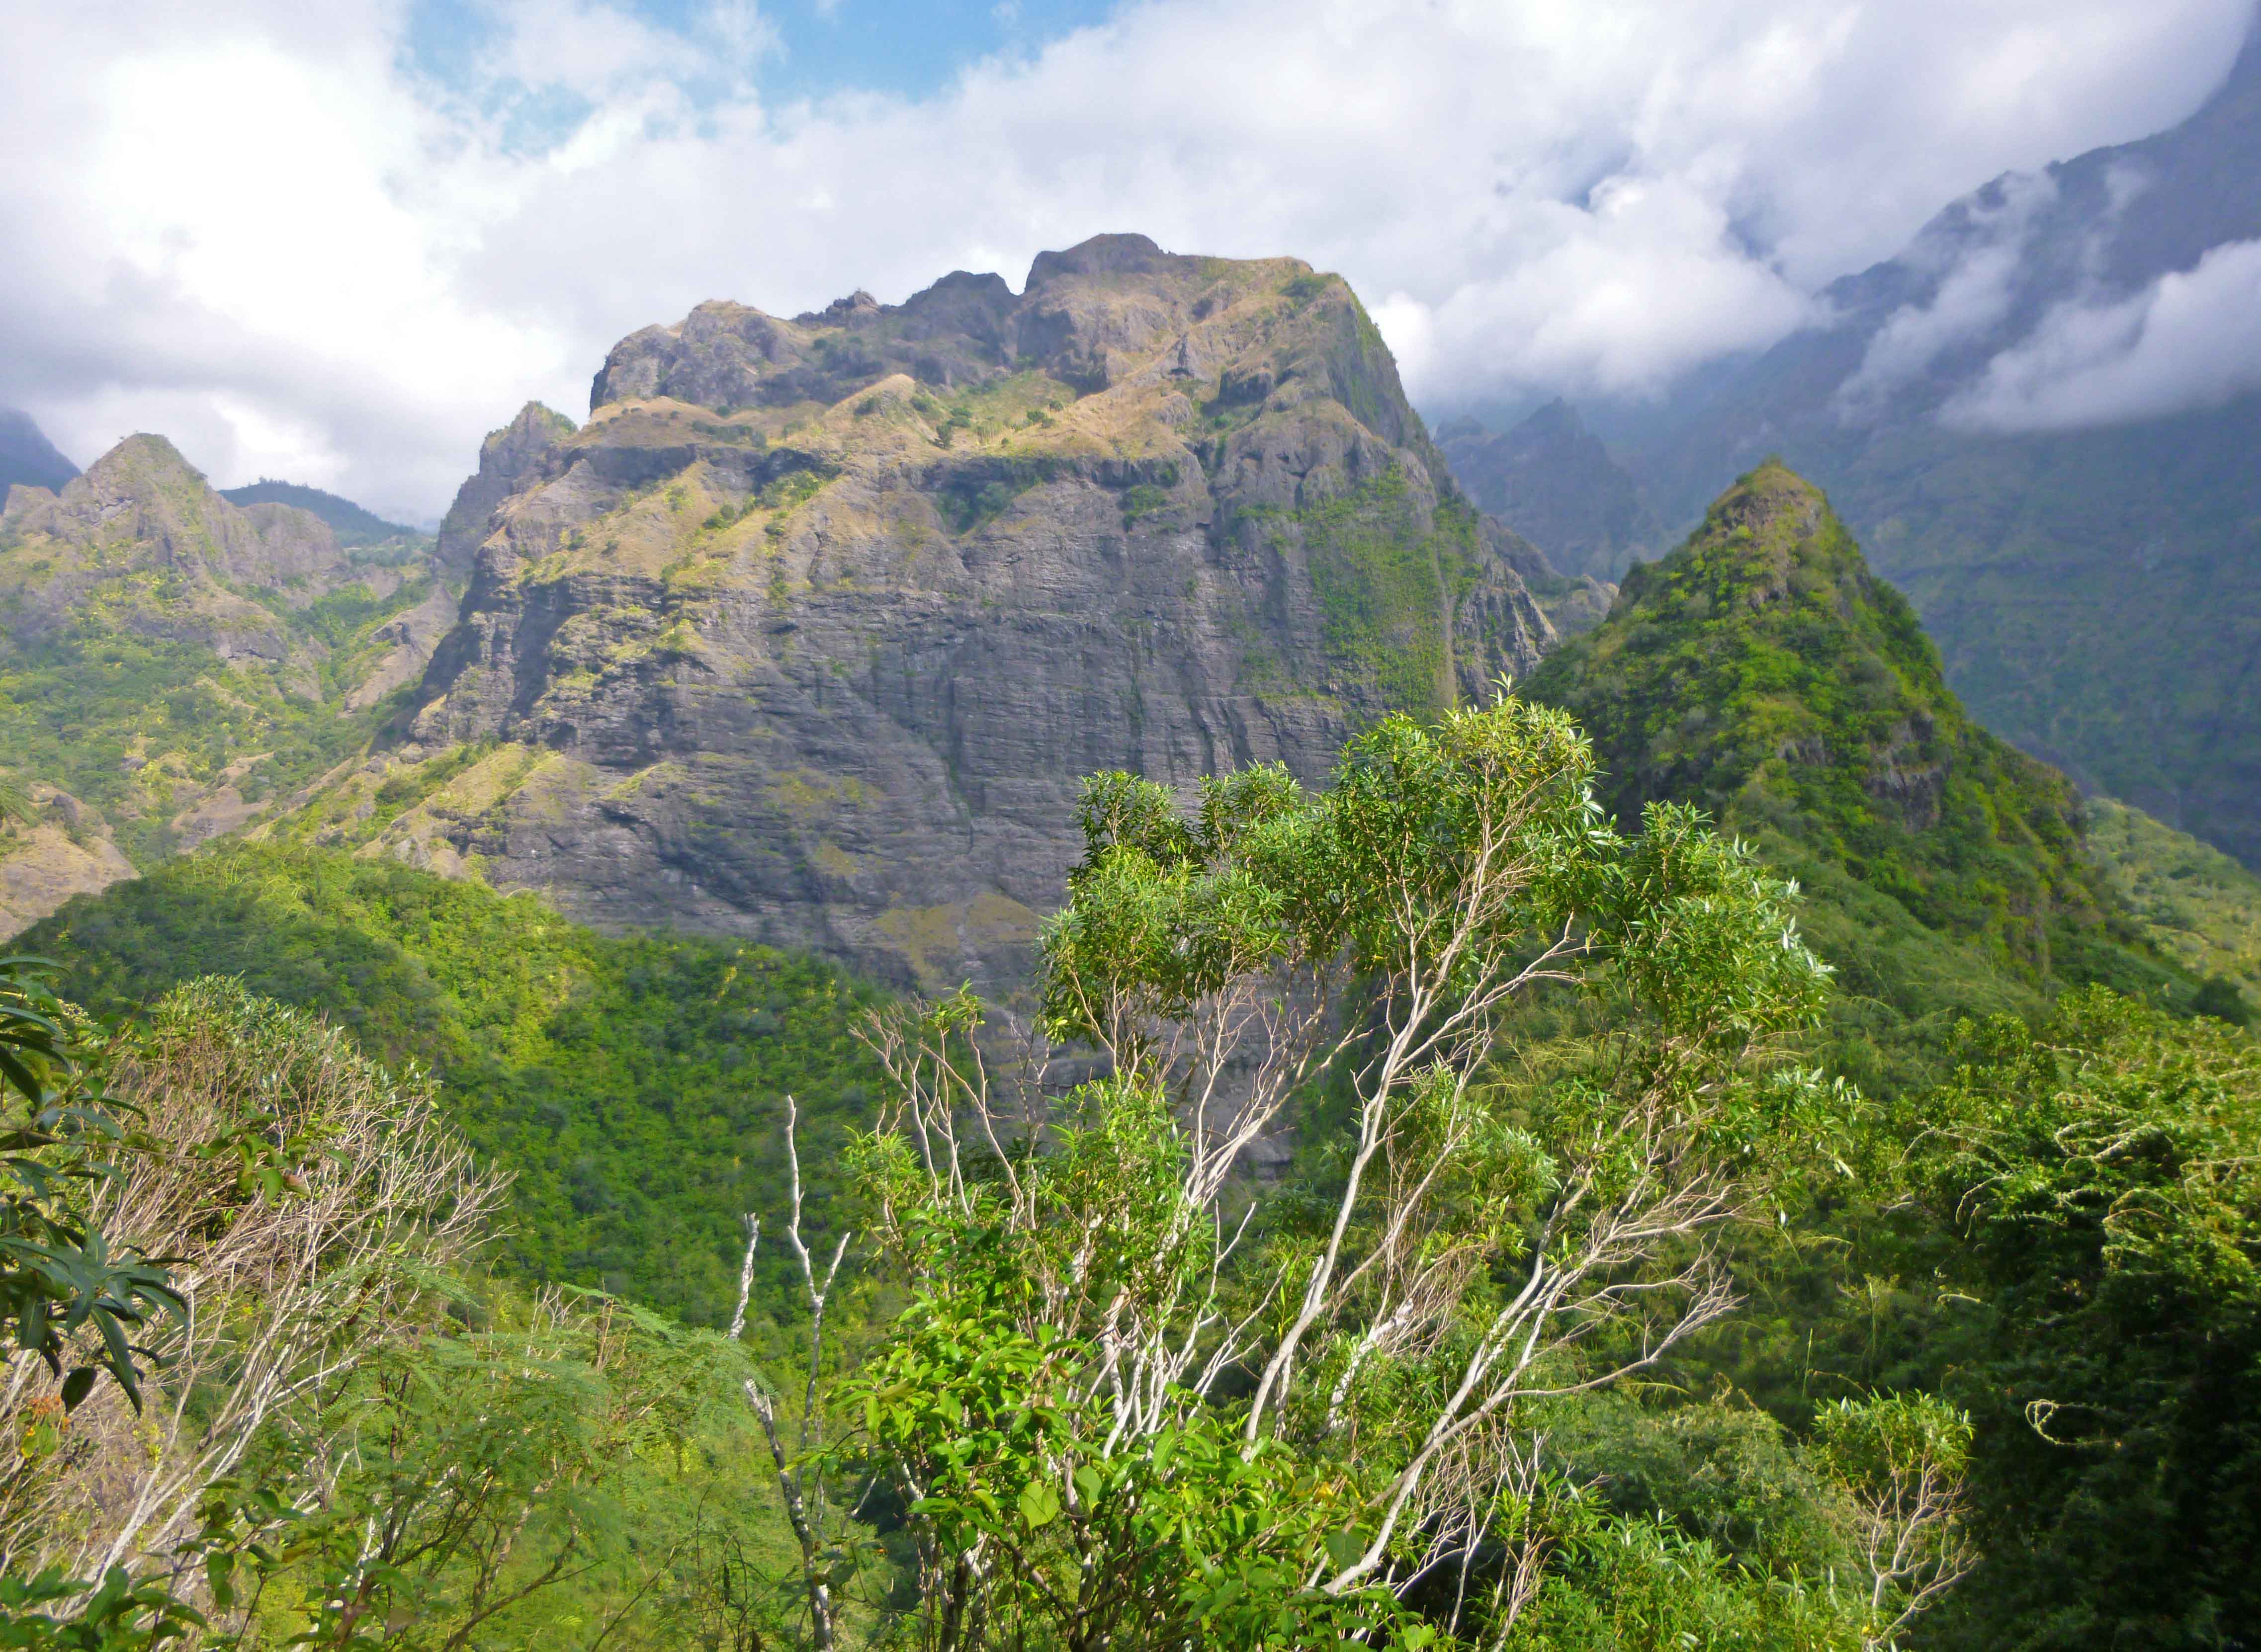
<path id="1" fill-rule="evenodd" d="M 502 1189 L 427 1083 L 226 981 L 172 994 L 104 1060 L 145 1139 L 95 1184 L 88 1229 L 163 1250 L 185 1306 L 149 1345 L 156 1403 L 97 1397 L 0 1485 L 9 1564 L 72 1577 L 170 1564 L 249 1462 L 285 1483 L 321 1462 L 328 1406 L 443 1306 L 443 1270 Z M 14 1360 L 0 1415 L 47 1401 L 38 1367 Z"/>

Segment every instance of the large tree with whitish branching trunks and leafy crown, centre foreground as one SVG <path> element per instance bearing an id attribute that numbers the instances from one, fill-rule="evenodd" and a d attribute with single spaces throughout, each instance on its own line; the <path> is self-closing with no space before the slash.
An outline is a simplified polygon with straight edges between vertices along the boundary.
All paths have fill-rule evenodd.
<path id="1" fill-rule="evenodd" d="M 1513 1623 L 1533 1406 L 1727 1311 L 1714 1236 L 1829 1101 L 1779 1049 L 1825 990 L 1793 890 L 1684 809 L 1619 836 L 1589 782 L 1569 719 L 1506 696 L 1388 719 L 1320 793 L 1259 766 L 1183 814 L 1099 775 L 1045 1042 L 995 1064 L 963 994 L 882 1028 L 861 1171 L 918 1304 L 861 1449 L 925 1645 L 1162 1647 L 1219 1611 L 1237 1645 L 1418 1645 L 1440 1575 L 1447 1627 Z M 1558 1031 L 1501 1044 L 1533 1001 Z M 1074 1049 L 1103 1076 L 1058 1101 Z M 1241 1153 L 1320 1094 L 1320 1184 L 1262 1198 Z"/>

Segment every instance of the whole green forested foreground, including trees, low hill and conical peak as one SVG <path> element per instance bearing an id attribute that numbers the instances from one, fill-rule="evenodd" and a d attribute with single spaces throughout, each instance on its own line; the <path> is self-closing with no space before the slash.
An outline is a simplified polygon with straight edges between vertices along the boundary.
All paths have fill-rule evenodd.
<path id="1" fill-rule="evenodd" d="M 0 1645 L 2250 1643 L 2261 906 L 1797 477 L 1072 829 L 993 1001 L 305 843 L 34 927 Z"/>

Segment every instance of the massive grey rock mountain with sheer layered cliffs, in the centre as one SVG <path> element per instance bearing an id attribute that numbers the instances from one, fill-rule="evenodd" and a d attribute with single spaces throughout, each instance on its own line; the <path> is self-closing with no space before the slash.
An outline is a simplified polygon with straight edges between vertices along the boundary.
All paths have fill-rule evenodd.
<path id="1" fill-rule="evenodd" d="M 484 868 L 599 927 L 1024 979 L 1081 777 L 1316 777 L 1599 617 L 1481 520 L 1350 287 L 1101 235 L 1015 294 L 703 303 L 527 407 L 393 734 L 271 836 Z"/>

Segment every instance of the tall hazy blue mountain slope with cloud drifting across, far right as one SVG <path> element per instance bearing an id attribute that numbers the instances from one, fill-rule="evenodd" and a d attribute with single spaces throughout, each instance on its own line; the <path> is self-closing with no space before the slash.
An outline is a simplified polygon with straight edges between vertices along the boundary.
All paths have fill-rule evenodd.
<path id="1" fill-rule="evenodd" d="M 1949 206 L 1632 468 L 1687 518 L 1779 452 L 1976 716 L 2261 866 L 2256 269 L 2261 41 L 2182 127 Z"/>

